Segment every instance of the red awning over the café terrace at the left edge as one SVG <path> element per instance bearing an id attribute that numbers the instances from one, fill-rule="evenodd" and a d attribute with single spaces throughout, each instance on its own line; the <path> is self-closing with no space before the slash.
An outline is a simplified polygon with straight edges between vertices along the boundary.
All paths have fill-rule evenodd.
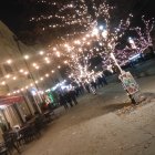
<path id="1" fill-rule="evenodd" d="M 10 105 L 23 101 L 22 95 L 0 96 L 0 105 Z"/>

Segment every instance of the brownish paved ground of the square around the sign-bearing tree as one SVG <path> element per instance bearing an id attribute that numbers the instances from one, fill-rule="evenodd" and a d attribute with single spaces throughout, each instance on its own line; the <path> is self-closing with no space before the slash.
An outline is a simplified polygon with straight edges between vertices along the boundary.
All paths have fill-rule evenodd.
<path id="1" fill-rule="evenodd" d="M 144 93 L 155 94 L 155 76 L 137 79 Z M 59 111 L 42 136 L 23 146 L 22 155 L 155 155 L 155 101 L 130 106 L 121 83 L 111 83 Z"/>

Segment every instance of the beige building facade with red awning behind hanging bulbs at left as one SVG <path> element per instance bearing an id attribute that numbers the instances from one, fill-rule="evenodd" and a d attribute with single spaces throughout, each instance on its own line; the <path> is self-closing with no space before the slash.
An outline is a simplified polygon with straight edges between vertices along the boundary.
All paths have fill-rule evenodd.
<path id="1" fill-rule="evenodd" d="M 27 116 L 41 112 L 39 103 L 43 99 L 38 93 L 52 86 L 59 76 L 55 73 L 56 75 L 49 75 L 51 79 L 41 82 L 45 78 L 42 73 L 50 74 L 51 66 L 34 70 L 31 64 L 34 64 L 37 58 L 28 60 L 31 53 L 35 53 L 35 50 L 19 41 L 0 21 L 0 126 L 21 125 Z"/>

